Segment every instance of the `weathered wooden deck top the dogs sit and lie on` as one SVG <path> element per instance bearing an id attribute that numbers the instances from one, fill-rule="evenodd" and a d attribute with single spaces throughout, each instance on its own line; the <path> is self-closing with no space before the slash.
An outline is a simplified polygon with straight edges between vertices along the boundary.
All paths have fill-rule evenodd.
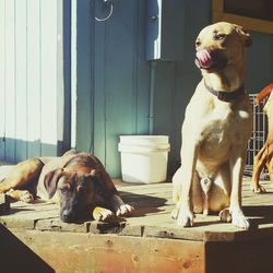
<path id="1" fill-rule="evenodd" d="M 254 194 L 249 181 L 244 182 L 244 210 L 251 218 L 252 228 L 242 230 L 219 222 L 217 215 L 197 215 L 194 227 L 181 228 L 170 218 L 174 209 L 171 183 L 128 185 L 116 181 L 124 201 L 136 207 L 133 216 L 120 222 L 105 224 L 86 222 L 66 224 L 59 221 L 57 205 L 50 203 L 11 204 L 11 214 L 0 217 L 8 228 L 59 230 L 92 234 L 117 234 L 134 237 L 157 237 L 195 241 L 253 240 L 273 237 L 273 189 L 263 182 L 268 193 Z"/>

